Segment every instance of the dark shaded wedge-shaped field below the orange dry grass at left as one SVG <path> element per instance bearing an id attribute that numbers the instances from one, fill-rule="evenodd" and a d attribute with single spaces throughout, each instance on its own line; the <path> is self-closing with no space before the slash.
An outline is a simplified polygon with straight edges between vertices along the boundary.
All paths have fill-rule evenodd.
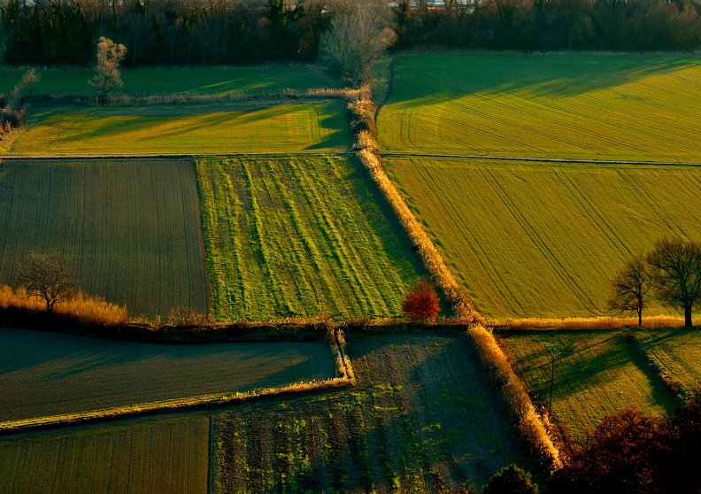
<path id="1" fill-rule="evenodd" d="M 0 421 L 274 388 L 334 374 L 325 343 L 166 345 L 2 328 L 0 357 Z"/>

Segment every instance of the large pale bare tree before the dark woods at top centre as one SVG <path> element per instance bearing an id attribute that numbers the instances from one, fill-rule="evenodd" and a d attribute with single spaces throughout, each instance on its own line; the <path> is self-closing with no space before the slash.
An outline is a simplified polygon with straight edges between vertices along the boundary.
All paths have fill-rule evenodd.
<path id="1" fill-rule="evenodd" d="M 368 2 L 348 5 L 336 14 L 320 44 L 331 72 L 366 81 L 374 59 L 397 41 L 387 12 L 383 2 Z"/>

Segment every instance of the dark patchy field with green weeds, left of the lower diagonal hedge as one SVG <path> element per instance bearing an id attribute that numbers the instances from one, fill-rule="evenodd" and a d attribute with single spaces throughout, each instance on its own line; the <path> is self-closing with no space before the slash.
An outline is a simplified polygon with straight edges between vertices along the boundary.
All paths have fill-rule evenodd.
<path id="1" fill-rule="evenodd" d="M 218 490 L 452 492 L 528 467 L 466 336 L 354 336 L 348 350 L 357 388 L 220 415 Z"/>

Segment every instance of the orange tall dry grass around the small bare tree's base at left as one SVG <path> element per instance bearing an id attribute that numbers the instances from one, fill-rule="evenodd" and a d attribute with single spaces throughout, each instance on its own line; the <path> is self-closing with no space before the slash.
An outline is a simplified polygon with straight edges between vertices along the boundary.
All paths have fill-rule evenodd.
<path id="1" fill-rule="evenodd" d="M 46 304 L 39 297 L 32 297 L 27 290 L 16 291 L 7 285 L 0 285 L 0 308 L 15 307 L 30 311 L 45 312 Z M 106 325 L 127 323 L 127 307 L 110 304 L 104 298 L 90 297 L 79 291 L 75 296 L 54 306 L 54 313 L 74 317 L 83 322 Z"/>

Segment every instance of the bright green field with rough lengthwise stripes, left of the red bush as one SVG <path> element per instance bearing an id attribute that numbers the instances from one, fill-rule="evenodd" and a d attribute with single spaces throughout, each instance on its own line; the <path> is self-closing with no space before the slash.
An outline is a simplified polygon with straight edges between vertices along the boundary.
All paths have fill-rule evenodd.
<path id="1" fill-rule="evenodd" d="M 401 313 L 420 259 L 355 160 L 201 158 L 197 175 L 217 318 Z"/>

